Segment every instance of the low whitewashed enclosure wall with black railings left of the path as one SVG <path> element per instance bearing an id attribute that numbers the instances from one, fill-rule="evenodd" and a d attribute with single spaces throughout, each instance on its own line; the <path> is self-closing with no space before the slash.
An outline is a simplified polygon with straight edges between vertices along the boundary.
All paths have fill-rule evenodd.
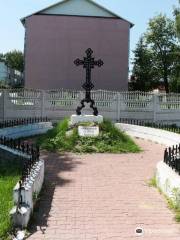
<path id="1" fill-rule="evenodd" d="M 0 126 L 0 151 L 9 153 L 6 162 L 12 163 L 16 156 L 21 165 L 20 179 L 13 189 L 14 207 L 10 211 L 13 227 L 27 226 L 36 198 L 44 181 L 44 160 L 40 158 L 39 147 L 21 140 L 46 133 L 52 129 L 52 123 L 47 118 L 30 118 L 19 121 L 7 121 Z M 0 164 L 3 162 L 0 156 Z"/>

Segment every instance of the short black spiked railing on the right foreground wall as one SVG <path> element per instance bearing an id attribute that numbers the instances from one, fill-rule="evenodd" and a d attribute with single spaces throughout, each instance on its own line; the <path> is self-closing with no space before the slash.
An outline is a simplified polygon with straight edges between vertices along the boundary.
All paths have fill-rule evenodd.
<path id="1" fill-rule="evenodd" d="M 180 175 L 180 144 L 165 149 L 164 162 Z"/>

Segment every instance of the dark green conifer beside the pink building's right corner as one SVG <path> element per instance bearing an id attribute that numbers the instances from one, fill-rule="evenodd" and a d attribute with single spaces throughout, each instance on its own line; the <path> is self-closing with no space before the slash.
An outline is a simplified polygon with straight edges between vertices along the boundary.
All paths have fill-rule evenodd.
<path id="1" fill-rule="evenodd" d="M 156 87 L 158 78 L 155 75 L 153 55 L 141 37 L 134 51 L 133 70 L 130 90 L 151 91 Z"/>

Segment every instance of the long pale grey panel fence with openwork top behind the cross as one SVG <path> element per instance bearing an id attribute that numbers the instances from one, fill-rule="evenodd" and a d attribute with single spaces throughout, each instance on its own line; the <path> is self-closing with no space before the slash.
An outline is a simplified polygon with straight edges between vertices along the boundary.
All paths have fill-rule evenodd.
<path id="1" fill-rule="evenodd" d="M 0 120 L 47 116 L 52 120 L 75 114 L 84 92 L 73 90 L 0 89 Z M 180 94 L 92 91 L 99 113 L 105 118 L 142 119 L 180 123 Z M 89 106 L 84 113 L 92 113 Z"/>

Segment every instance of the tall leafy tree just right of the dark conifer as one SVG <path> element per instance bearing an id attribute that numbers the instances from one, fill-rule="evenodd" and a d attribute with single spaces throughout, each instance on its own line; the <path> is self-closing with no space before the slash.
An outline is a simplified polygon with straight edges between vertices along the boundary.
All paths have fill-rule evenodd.
<path id="1" fill-rule="evenodd" d="M 146 33 L 146 42 L 151 48 L 154 64 L 160 79 L 163 79 L 166 92 L 169 93 L 169 81 L 176 64 L 177 37 L 173 20 L 165 15 L 150 19 Z"/>

